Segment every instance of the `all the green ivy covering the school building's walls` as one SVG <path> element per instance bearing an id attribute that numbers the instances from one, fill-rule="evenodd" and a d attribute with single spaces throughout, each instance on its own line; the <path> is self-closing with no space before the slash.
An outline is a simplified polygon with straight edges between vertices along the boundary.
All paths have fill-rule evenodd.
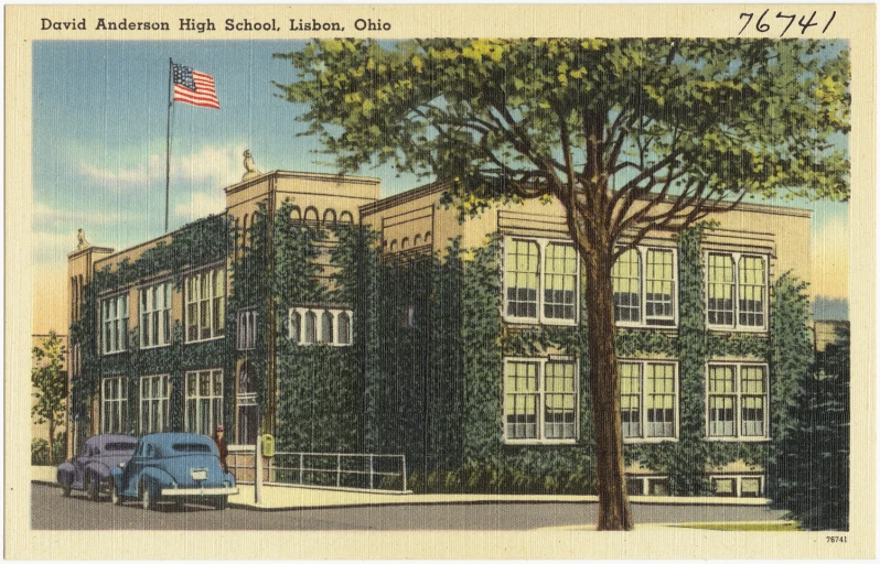
<path id="1" fill-rule="evenodd" d="M 500 237 L 476 249 L 461 249 L 452 240 L 442 253 L 387 258 L 368 228 L 322 229 L 292 221 L 291 210 L 292 204 L 285 202 L 271 221 L 265 210 L 255 214 L 248 245 L 233 263 L 225 339 L 185 345 L 178 323 L 171 347 L 140 350 L 132 332 L 127 352 L 96 352 L 98 294 L 161 272 L 171 272 L 180 286 L 185 269 L 229 256 L 229 241 L 237 234 L 225 218 L 194 224 L 141 259 L 96 273 L 85 291 L 84 316 L 72 327 L 72 341 L 83 345 L 84 378 L 72 395 L 76 412 L 87 413 L 100 377 L 122 375 L 131 379 L 129 405 L 136 413 L 135 378 L 169 373 L 172 429 L 181 430 L 184 372 L 222 366 L 224 417 L 234 421 L 235 369 L 243 361 L 258 382 L 257 403 L 265 410 L 271 313 L 277 324 L 273 431 L 279 451 L 406 454 L 410 487 L 421 491 L 594 490 L 583 300 L 578 326 L 512 327 L 502 321 Z M 706 440 L 708 360 L 769 364 L 770 432 L 776 440 L 788 432 L 788 410 L 811 358 L 805 288 L 787 274 L 772 286 L 769 337 L 707 330 L 700 241 L 708 228 L 698 226 L 678 237 L 677 333 L 625 329 L 616 336 L 620 357 L 678 359 L 678 441 L 625 447 L 627 463 L 667 475 L 673 495 L 707 494 L 707 465 L 743 459 L 765 466 L 772 454 L 769 443 Z M 328 261 L 329 278 L 321 267 Z M 298 304 L 351 308 L 352 345 L 299 346 L 288 339 L 287 312 Z M 243 307 L 256 307 L 260 328 L 253 350 L 236 351 L 236 313 Z M 578 359 L 577 444 L 505 444 L 503 358 L 550 350 Z M 136 417 L 131 420 L 133 430 Z"/>

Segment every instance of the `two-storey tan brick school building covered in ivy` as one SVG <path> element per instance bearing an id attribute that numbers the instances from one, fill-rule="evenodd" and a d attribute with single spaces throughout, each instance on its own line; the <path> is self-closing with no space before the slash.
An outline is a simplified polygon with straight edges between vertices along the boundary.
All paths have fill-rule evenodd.
<path id="1" fill-rule="evenodd" d="M 561 205 L 249 171 L 225 210 L 68 257 L 71 451 L 173 430 L 405 454 L 433 489 L 584 491 L 583 264 Z M 742 204 L 613 270 L 634 495 L 763 496 L 812 351 L 809 212 Z M 421 481 L 420 481 L 421 480 Z"/>

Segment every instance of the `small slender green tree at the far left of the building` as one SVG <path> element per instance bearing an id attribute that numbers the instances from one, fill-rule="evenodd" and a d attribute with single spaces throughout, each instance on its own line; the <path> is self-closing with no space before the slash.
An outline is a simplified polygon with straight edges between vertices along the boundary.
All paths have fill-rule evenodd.
<path id="1" fill-rule="evenodd" d="M 49 453 L 55 453 L 55 431 L 64 424 L 67 399 L 67 373 L 63 370 L 64 355 L 67 350 L 58 335 L 51 330 L 41 345 L 33 347 L 31 356 L 31 384 L 35 389 L 36 402 L 31 408 L 34 421 L 42 425 L 49 423 Z"/>

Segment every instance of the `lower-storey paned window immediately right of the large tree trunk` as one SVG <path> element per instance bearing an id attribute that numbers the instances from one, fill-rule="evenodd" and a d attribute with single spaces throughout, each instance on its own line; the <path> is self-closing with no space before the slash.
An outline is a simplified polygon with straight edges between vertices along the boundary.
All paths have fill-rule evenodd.
<path id="1" fill-rule="evenodd" d="M 663 441 L 677 437 L 678 384 L 674 362 L 618 364 L 621 430 L 624 440 Z"/>

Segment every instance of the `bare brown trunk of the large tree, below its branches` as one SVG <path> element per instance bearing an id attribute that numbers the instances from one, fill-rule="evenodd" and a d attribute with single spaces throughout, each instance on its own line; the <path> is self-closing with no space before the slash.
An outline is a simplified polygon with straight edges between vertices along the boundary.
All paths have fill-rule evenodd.
<path id="1" fill-rule="evenodd" d="M 589 300 L 590 391 L 595 426 L 599 531 L 633 528 L 626 477 L 623 471 L 623 438 L 620 422 L 620 383 L 614 351 L 614 300 L 611 284 L 611 249 L 599 245 L 587 265 Z"/>

